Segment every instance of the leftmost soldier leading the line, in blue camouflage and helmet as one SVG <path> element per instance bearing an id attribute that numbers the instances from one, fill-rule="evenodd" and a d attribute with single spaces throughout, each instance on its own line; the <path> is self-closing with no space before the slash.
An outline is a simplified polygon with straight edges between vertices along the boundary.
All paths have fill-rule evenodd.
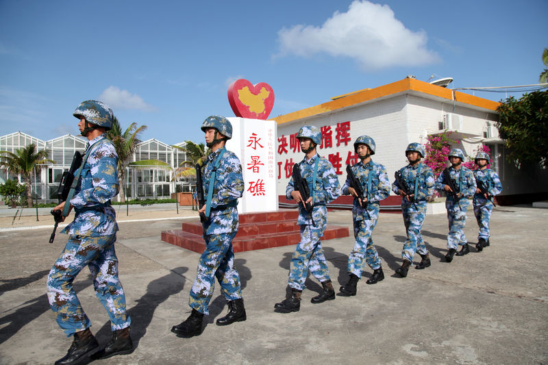
<path id="1" fill-rule="evenodd" d="M 74 336 L 69 351 L 55 362 L 65 365 L 79 362 L 84 355 L 99 347 L 90 331 L 90 320 L 73 289 L 73 280 L 86 266 L 93 277 L 95 295 L 110 316 L 112 329 L 110 342 L 94 354 L 94 358 L 129 353 L 133 347 L 129 337 L 131 320 L 126 313 L 125 294 L 118 277 L 118 258 L 114 251 L 118 225 L 110 199 L 119 192 L 118 155 L 105 135 L 105 131 L 112 127 L 112 110 L 101 101 L 88 100 L 80 104 L 73 115 L 79 119 L 82 136 L 88 138 L 88 158 L 69 202 L 70 207 L 65 210 L 63 202 L 53 208 L 65 210 L 68 215 L 74 207 L 75 217 L 62 231 L 69 234 L 69 242 L 47 277 L 51 310 L 66 336 Z"/>

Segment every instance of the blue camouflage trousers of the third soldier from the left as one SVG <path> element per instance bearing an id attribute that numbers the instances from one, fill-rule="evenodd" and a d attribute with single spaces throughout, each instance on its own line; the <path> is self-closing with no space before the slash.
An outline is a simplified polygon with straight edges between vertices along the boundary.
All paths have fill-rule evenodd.
<path id="1" fill-rule="evenodd" d="M 331 280 L 320 242 L 323 231 L 325 231 L 325 225 L 322 227 L 301 225 L 301 242 L 297 244 L 291 257 L 288 279 L 290 288 L 304 290 L 304 282 L 309 270 L 320 282 Z"/>

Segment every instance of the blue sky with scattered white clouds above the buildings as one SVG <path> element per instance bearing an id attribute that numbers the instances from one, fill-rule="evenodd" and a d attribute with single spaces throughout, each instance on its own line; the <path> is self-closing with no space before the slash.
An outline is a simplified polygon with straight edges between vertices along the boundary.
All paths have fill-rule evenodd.
<path id="1" fill-rule="evenodd" d="M 207 116 L 234 116 L 238 78 L 273 87 L 270 117 L 409 74 L 536 84 L 546 14 L 545 0 L 0 0 L 0 135 L 77 134 L 73 110 L 100 99 L 147 125 L 142 140 L 202 142 Z"/>

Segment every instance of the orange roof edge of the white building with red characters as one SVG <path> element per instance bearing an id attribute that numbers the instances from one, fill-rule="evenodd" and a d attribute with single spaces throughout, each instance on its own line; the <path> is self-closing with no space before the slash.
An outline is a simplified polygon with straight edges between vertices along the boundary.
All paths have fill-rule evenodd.
<path id="1" fill-rule="evenodd" d="M 349 108 L 352 105 L 358 105 L 366 101 L 386 98 L 391 95 L 395 96 L 398 94 L 404 94 L 406 92 L 419 92 L 426 95 L 431 95 L 433 97 L 447 99 L 447 101 L 456 101 L 458 103 L 468 104 L 475 108 L 492 110 L 493 112 L 496 112 L 498 106 L 500 105 L 497 101 L 475 97 L 473 95 L 466 94 L 465 92 L 432 85 L 425 81 L 405 78 L 395 81 L 392 84 L 379 86 L 378 88 L 364 89 L 358 92 L 349 93 L 347 96 L 339 97 L 338 99 L 327 101 L 326 103 L 312 106 L 310 108 L 297 110 L 297 112 L 276 116 L 275 118 L 270 118 L 270 120 L 276 121 L 277 124 L 288 123 L 298 119 L 308 118 L 309 116 Z"/>

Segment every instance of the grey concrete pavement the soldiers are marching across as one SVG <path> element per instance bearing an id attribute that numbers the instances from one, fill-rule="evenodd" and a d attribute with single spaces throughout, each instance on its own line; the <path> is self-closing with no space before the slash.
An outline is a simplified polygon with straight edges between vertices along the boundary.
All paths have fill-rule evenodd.
<path id="1" fill-rule="evenodd" d="M 145 212 L 150 219 L 162 211 Z M 373 286 L 361 280 L 356 297 L 317 305 L 310 299 L 321 286 L 308 279 L 301 310 L 291 314 L 275 313 L 273 305 L 284 298 L 294 246 L 237 253 L 247 320 L 214 324 L 226 311 L 216 288 L 202 335 L 190 339 L 177 338 L 170 328 L 188 316 L 199 254 L 160 240 L 160 231 L 177 229 L 184 219 L 171 215 L 119 223 L 116 251 L 136 349 L 97 364 L 548 364 L 548 210 L 496 207 L 491 246 L 482 253 L 471 249 L 451 264 L 443 262 L 447 217 L 427 216 L 423 236 L 432 266 L 412 268 L 405 279 L 393 274 L 405 240 L 401 214 L 381 214 L 373 240 L 386 279 Z M 329 223 L 351 227 L 351 212 L 329 212 Z M 465 232 L 476 241 L 470 210 Z M 51 364 L 71 344 L 45 294 L 66 235 L 49 244 L 49 234 L 51 229 L 0 231 L 1 364 Z M 353 239 L 323 246 L 338 289 L 347 279 Z M 366 268 L 364 279 L 370 275 Z M 108 316 L 86 270 L 75 288 L 92 331 L 107 342 Z"/>

